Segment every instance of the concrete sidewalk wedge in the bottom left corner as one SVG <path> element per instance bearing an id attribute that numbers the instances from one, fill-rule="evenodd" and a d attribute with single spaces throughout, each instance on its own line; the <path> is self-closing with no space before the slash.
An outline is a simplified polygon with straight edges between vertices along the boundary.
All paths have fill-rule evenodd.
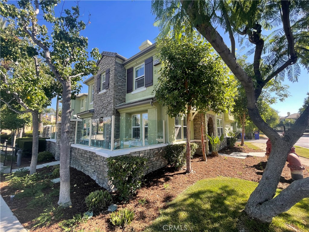
<path id="1" fill-rule="evenodd" d="M 11 209 L 7 206 L 2 196 L 0 199 L 0 231 L 1 232 L 27 232 Z"/>

